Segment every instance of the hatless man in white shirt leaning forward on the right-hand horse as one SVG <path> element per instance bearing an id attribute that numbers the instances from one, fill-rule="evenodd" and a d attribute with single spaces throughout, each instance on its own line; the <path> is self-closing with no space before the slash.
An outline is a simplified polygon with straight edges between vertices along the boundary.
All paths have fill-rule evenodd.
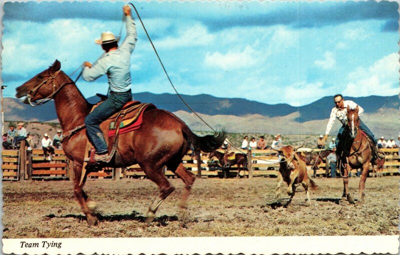
<path id="1" fill-rule="evenodd" d="M 338 133 L 337 133 L 337 137 L 336 137 L 336 154 L 340 154 L 341 153 L 341 143 L 340 140 L 343 137 L 343 131 L 345 126 L 347 125 L 347 107 L 349 107 L 351 110 L 355 109 L 358 106 L 358 116 L 361 116 L 362 113 L 364 112 L 364 109 L 362 109 L 361 106 L 357 105 L 355 102 L 351 101 L 351 100 L 344 100 L 343 96 L 340 94 L 337 94 L 333 97 L 334 99 L 334 103 L 335 103 L 335 107 L 332 108 L 331 112 L 330 112 L 330 117 L 329 117 L 329 121 L 328 124 L 326 125 L 326 131 L 325 131 L 325 135 L 323 137 L 323 140 L 326 141 L 326 139 L 328 138 L 329 132 L 332 129 L 333 126 L 333 122 L 335 121 L 335 119 L 338 119 L 342 126 L 339 129 Z M 376 140 L 372 134 L 372 132 L 368 129 L 368 127 L 362 122 L 362 120 L 360 119 L 359 121 L 359 128 L 365 132 L 365 134 L 369 137 L 369 139 L 371 140 L 373 146 L 373 156 L 372 156 L 372 162 L 375 159 L 375 156 L 377 156 L 379 159 L 384 157 L 384 154 L 379 152 L 378 148 L 376 147 Z"/>

